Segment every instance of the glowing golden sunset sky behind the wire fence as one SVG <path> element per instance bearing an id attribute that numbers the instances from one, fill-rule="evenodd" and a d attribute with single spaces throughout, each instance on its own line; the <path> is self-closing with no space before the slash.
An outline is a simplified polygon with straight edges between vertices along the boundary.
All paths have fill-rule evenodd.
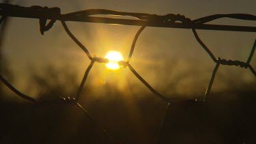
<path id="1" fill-rule="evenodd" d="M 109 9 L 123 12 L 149 14 L 183 14 L 195 19 L 212 14 L 244 13 L 256 15 L 255 1 L 12 1 L 12 4 L 40 5 L 61 8 L 61 14 L 87 9 Z M 223 18 L 211 22 L 225 25 L 250 25 L 256 22 Z M 124 59 L 128 56 L 137 26 L 105 25 L 96 23 L 68 22 L 70 31 L 89 49 L 92 55 L 104 57 L 108 51 L 120 51 Z M 253 46 L 256 33 L 231 31 L 198 31 L 203 42 L 216 55 L 224 59 L 246 61 Z M 89 64 L 85 53 L 77 46 L 57 21 L 52 29 L 40 35 L 38 19 L 10 18 L 3 53 L 14 75 L 16 87 L 35 98 L 39 93 L 31 91 L 31 72 L 47 75 L 47 66 L 53 66 L 58 75 L 70 70 L 80 83 L 83 72 Z M 135 70 L 152 87 L 165 96 L 175 94 L 184 97 L 203 96 L 210 81 L 215 63 L 196 42 L 190 29 L 167 29 L 146 27 L 141 33 L 130 62 Z M 255 57 L 251 62 L 256 66 Z M 255 67 L 254 67 L 255 68 Z M 62 73 L 63 72 L 63 73 Z M 64 76 L 65 77 L 65 76 Z M 48 80 L 51 81 L 51 80 Z M 249 70 L 235 66 L 221 66 L 213 91 L 227 89 L 230 83 L 240 87 L 243 83 L 255 81 Z M 68 85 L 68 82 L 63 81 Z M 85 85 L 102 87 L 108 83 L 120 91 L 129 85 L 135 93 L 147 89 L 128 68 L 107 70 L 102 63 L 96 63 Z M 57 84 L 56 84 L 57 85 Z M 233 85 L 232 85 L 233 86 Z M 35 87 L 35 89 L 37 89 Z M 99 88 L 100 89 L 100 88 Z M 102 88 L 102 91 L 106 89 Z M 97 92 L 97 91 L 96 91 Z M 147 91 L 148 92 L 148 91 Z M 102 92 L 104 93 L 104 92 Z M 100 94 L 102 94 L 100 93 Z M 150 93 L 150 92 L 149 92 Z M 65 93 L 63 93 L 65 94 Z"/>

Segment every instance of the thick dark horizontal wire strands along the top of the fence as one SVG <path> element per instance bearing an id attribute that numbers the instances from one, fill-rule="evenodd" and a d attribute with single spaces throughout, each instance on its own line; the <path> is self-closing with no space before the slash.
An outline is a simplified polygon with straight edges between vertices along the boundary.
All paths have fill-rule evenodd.
<path id="1" fill-rule="evenodd" d="M 130 16 L 136 19 L 126 18 L 105 18 L 94 15 L 114 15 L 114 16 Z M 51 20 L 47 25 L 41 27 L 41 33 L 51 29 L 56 20 L 61 21 L 79 21 L 87 23 L 109 23 L 119 25 L 137 25 L 147 27 L 170 27 L 180 29 L 208 29 L 218 31 L 247 31 L 256 32 L 256 27 L 236 26 L 236 25 L 210 25 L 205 24 L 219 18 L 235 18 L 240 20 L 256 20 L 256 16 L 251 14 L 214 14 L 190 20 L 180 14 L 166 14 L 163 16 L 146 13 L 133 12 L 117 12 L 113 10 L 92 9 L 69 14 L 61 14 L 60 8 L 48 8 L 38 5 L 31 7 L 22 7 L 19 5 L 11 5 L 0 3 L 0 15 L 23 17 L 23 18 L 39 18 L 40 25 L 46 24 L 46 20 Z M 180 23 L 181 22 L 181 23 Z"/>

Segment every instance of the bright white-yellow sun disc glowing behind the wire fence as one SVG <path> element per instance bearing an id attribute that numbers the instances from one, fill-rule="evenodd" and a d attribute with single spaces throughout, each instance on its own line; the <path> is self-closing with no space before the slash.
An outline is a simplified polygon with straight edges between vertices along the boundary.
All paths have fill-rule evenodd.
<path id="1" fill-rule="evenodd" d="M 118 62 L 124 61 L 122 54 L 117 51 L 109 51 L 104 58 L 109 59 L 109 63 L 106 63 L 106 68 L 111 70 L 118 70 L 120 67 Z"/>

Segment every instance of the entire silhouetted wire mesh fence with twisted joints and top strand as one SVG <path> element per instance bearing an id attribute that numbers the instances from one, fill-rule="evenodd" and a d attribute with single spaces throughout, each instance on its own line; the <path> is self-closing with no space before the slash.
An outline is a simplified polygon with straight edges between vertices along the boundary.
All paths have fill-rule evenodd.
<path id="1" fill-rule="evenodd" d="M 190 18 L 186 18 L 180 14 L 167 14 L 164 16 L 156 15 L 156 14 L 145 14 L 145 13 L 132 13 L 132 12 L 117 12 L 113 10 L 102 10 L 102 9 L 93 9 L 93 10 L 83 10 L 79 12 L 72 12 L 69 14 L 61 14 L 60 8 L 48 8 L 41 6 L 31 6 L 31 7 L 22 7 L 19 5 L 11 5 L 7 3 L 0 3 L 0 24 L 3 23 L 5 18 L 11 17 L 22 17 L 22 18 L 38 18 L 40 22 L 40 33 L 44 35 L 45 31 L 50 30 L 56 20 L 61 21 L 63 25 L 63 29 L 65 29 L 66 33 L 74 40 L 74 42 L 85 52 L 88 59 L 91 61 L 87 70 L 85 70 L 85 74 L 83 76 L 83 80 L 77 90 L 76 96 L 74 98 L 59 98 L 58 102 L 63 103 L 72 103 L 79 107 L 83 111 L 85 115 L 87 115 L 91 121 L 94 121 L 99 130 L 102 130 L 104 134 L 109 138 L 112 143 L 116 143 L 113 137 L 109 135 L 109 133 L 104 130 L 96 121 L 96 119 L 91 115 L 80 103 L 79 100 L 81 98 L 81 92 L 83 91 L 83 87 L 89 75 L 91 68 L 94 66 L 96 62 L 98 63 L 108 63 L 109 59 L 104 59 L 102 57 L 97 57 L 96 55 L 92 56 L 89 53 L 88 49 L 79 42 L 78 39 L 72 34 L 68 26 L 66 25 L 66 21 L 76 21 L 76 22 L 87 22 L 87 23 L 105 23 L 105 24 L 119 24 L 119 25 L 136 25 L 141 26 L 141 28 L 137 31 L 134 39 L 132 41 L 132 45 L 130 48 L 130 53 L 127 57 L 126 61 L 119 61 L 119 66 L 124 66 L 124 68 L 129 68 L 130 71 L 136 76 L 145 87 L 147 87 L 155 96 L 158 96 L 160 99 L 165 100 L 167 102 L 166 114 L 169 110 L 169 106 L 175 100 L 168 98 L 166 96 L 162 96 L 162 94 L 158 93 L 145 79 L 130 65 L 130 59 L 132 57 L 132 53 L 134 51 L 136 42 L 139 38 L 139 35 L 146 27 L 169 27 L 169 28 L 180 28 L 180 29 L 192 29 L 193 34 L 197 42 L 201 45 L 203 50 L 209 55 L 209 57 L 216 63 L 214 70 L 212 71 L 212 76 L 210 77 L 210 82 L 208 84 L 207 89 L 205 90 L 205 95 L 201 100 L 197 99 L 195 102 L 205 102 L 210 94 L 212 85 L 214 83 L 214 78 L 216 73 L 218 72 L 218 68 L 220 65 L 224 66 L 240 66 L 241 68 L 245 68 L 250 70 L 254 76 L 256 76 L 255 69 L 251 66 L 251 59 L 253 58 L 253 54 L 255 53 L 256 48 L 256 39 L 251 48 L 251 53 L 248 55 L 248 59 L 246 62 L 237 61 L 237 60 L 226 60 L 221 57 L 216 58 L 214 53 L 210 51 L 210 48 L 206 46 L 201 38 L 199 37 L 196 29 L 205 29 L 205 30 L 216 30 L 216 31 L 245 31 L 245 32 L 256 32 L 256 27 L 248 27 L 248 26 L 236 26 L 236 25 L 210 25 L 207 24 L 212 20 L 216 20 L 219 18 L 235 18 L 239 20 L 256 20 L 256 16 L 251 14 L 214 14 L 211 16 L 205 16 L 202 18 L 198 18 L 195 20 L 191 20 Z M 130 16 L 136 19 L 124 19 L 124 18 L 106 18 L 106 17 L 98 17 L 96 15 L 115 15 L 115 16 Z M 50 20 L 47 23 L 47 20 Z M 1 81 L 17 96 L 28 100 L 29 102 L 33 102 L 34 104 L 42 103 L 40 100 L 36 100 L 30 96 L 21 93 L 16 89 L 11 83 L 9 83 L 3 76 L 0 75 Z M 165 123 L 165 117 L 163 118 L 162 124 L 159 128 L 158 136 L 156 137 L 156 143 L 159 139 L 159 136 L 162 131 L 162 126 Z"/>

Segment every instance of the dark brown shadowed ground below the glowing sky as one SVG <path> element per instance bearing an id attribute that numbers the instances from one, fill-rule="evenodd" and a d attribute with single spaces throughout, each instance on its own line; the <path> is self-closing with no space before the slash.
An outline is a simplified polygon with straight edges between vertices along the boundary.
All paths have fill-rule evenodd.
<path id="1" fill-rule="evenodd" d="M 233 91 L 233 99 L 227 98 L 227 93 L 212 93 L 205 103 L 171 104 L 157 143 L 256 143 L 255 90 Z M 139 115 L 130 114 L 137 111 L 128 112 L 121 99 L 83 106 L 116 143 L 154 143 L 165 103 L 150 98 L 154 100 L 137 101 Z M 111 143 L 70 103 L 34 105 L 1 100 L 0 115 L 0 143 Z"/>

